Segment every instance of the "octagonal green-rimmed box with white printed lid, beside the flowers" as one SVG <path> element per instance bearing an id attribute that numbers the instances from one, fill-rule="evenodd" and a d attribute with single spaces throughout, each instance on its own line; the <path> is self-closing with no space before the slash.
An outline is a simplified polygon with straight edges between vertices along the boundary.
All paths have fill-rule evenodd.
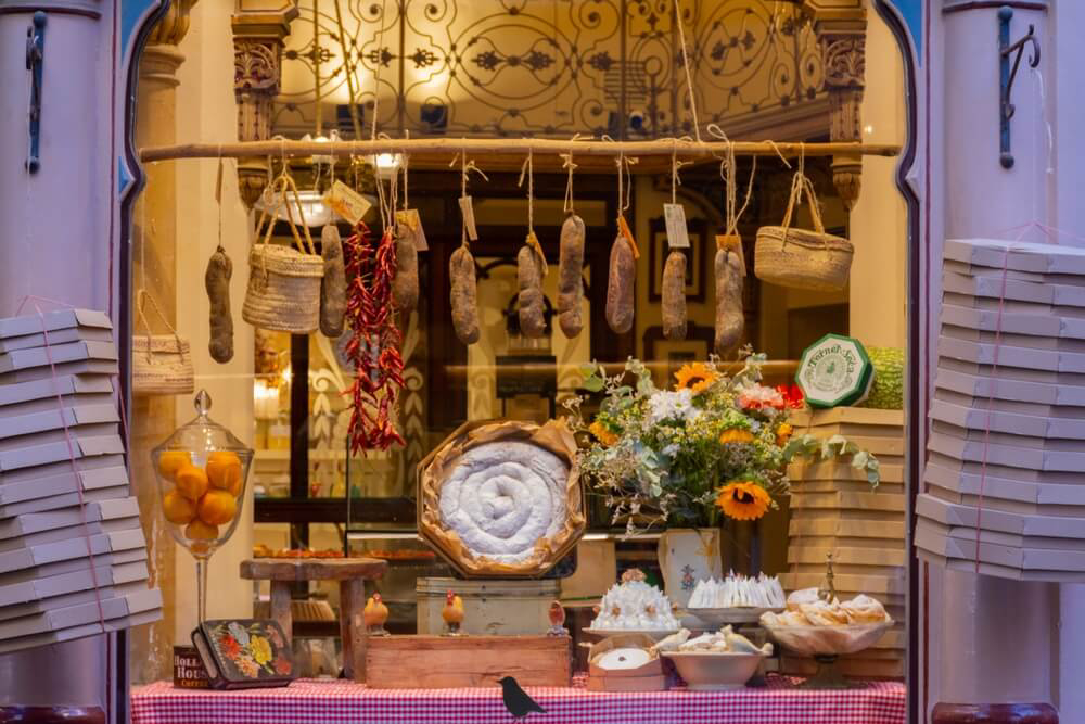
<path id="1" fill-rule="evenodd" d="M 795 382 L 810 407 L 844 407 L 867 398 L 875 367 L 863 343 L 851 336 L 826 334 L 806 347 Z"/>

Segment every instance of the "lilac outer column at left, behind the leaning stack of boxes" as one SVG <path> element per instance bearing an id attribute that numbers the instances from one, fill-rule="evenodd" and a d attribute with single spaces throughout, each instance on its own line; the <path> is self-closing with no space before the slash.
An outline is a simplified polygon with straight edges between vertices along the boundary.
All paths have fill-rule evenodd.
<path id="1" fill-rule="evenodd" d="M 115 3 L 0 0 L 0 317 L 33 294 L 116 313 L 112 63 Z M 25 168 L 26 29 L 47 14 L 41 165 Z M 49 308 L 44 304 L 44 308 Z M 24 309 L 25 312 L 26 309 Z M 33 312 L 33 307 L 31 307 Z M 105 708 L 105 636 L 0 656 L 0 707 Z"/>

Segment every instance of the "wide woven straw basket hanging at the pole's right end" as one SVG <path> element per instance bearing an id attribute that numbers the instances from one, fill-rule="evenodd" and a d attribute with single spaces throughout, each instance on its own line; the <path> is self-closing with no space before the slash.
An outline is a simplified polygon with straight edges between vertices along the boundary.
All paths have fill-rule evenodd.
<path id="1" fill-rule="evenodd" d="M 792 214 L 802 203 L 804 193 L 810 201 L 814 231 L 791 228 Z M 847 239 L 826 233 L 814 185 L 799 172 L 791 185 L 783 225 L 764 226 L 757 230 L 754 274 L 763 281 L 781 287 L 835 292 L 847 285 L 853 253 L 854 246 Z"/>

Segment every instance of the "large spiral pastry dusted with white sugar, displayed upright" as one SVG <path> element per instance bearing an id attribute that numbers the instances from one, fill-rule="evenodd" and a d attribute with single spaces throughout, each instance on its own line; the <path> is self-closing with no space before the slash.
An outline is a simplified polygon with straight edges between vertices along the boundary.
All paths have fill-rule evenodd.
<path id="1" fill-rule="evenodd" d="M 474 556 L 519 563 L 565 524 L 569 465 L 528 442 L 471 448 L 441 486 L 441 520 Z"/>

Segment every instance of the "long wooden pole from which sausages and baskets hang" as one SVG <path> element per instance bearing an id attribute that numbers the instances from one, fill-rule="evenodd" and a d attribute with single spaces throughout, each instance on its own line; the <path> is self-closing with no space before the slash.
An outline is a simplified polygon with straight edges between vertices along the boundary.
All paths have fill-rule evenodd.
<path id="1" fill-rule="evenodd" d="M 140 161 L 175 161 L 177 158 L 242 158 L 283 154 L 299 156 L 362 156 L 379 153 L 413 153 L 443 155 L 451 158 L 457 153 L 569 153 L 569 141 L 546 138 L 378 138 L 369 141 L 243 141 L 238 143 L 181 143 L 178 145 L 150 147 L 140 150 Z M 901 152 L 896 143 L 777 143 L 774 141 L 577 141 L 579 156 L 677 156 L 722 157 L 728 151 L 737 156 L 895 156 Z"/>

